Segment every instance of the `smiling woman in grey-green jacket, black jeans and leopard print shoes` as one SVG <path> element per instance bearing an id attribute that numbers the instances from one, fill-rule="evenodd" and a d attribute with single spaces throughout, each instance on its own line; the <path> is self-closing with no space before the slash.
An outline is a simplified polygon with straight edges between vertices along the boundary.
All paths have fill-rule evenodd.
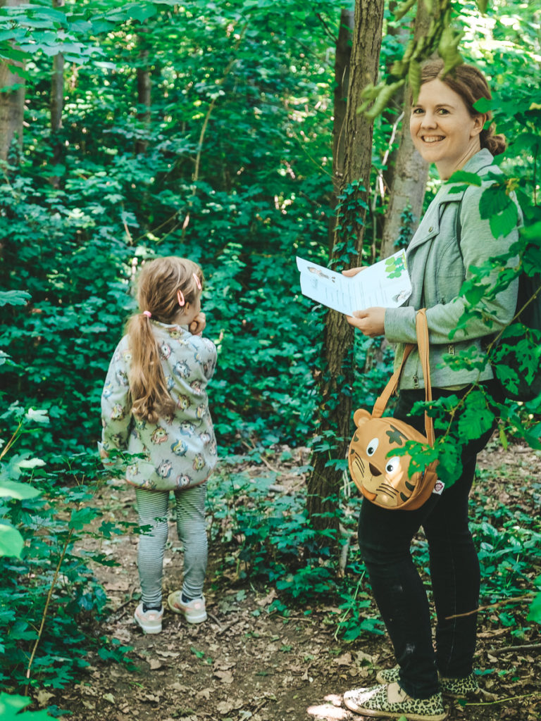
<path id="1" fill-rule="evenodd" d="M 410 118 L 415 148 L 426 161 L 436 164 L 442 180 L 459 169 L 480 177 L 499 172 L 493 166 L 493 155 L 503 151 L 505 141 L 493 135 L 493 128 L 485 129 L 490 113 L 473 107 L 481 97 L 491 98 L 483 75 L 467 65 L 444 78 L 442 70 L 441 61 L 423 67 L 421 90 Z M 413 292 L 407 305 L 369 308 L 348 318 L 364 335 L 385 335 L 396 343 L 400 360 L 404 344 L 416 342 L 415 311 L 426 307 L 434 398 L 461 396 L 474 382 L 491 391 L 489 363 L 483 371 L 452 370 L 444 363 L 444 355 L 469 349 L 483 353 L 483 337 L 498 332 L 514 315 L 516 282 L 496 298 L 483 298 L 491 323 L 475 318 L 457 330 L 465 307 L 459 290 L 471 275 L 470 266 L 506 252 L 518 237 L 514 229 L 508 236 L 495 238 L 489 221 L 481 218 L 480 196 L 490 182 L 483 182 L 483 187 L 468 186 L 459 193 L 451 193 L 451 185 L 442 185 L 408 247 Z M 346 275 L 359 270 L 346 271 Z M 452 330 L 456 333 L 449 340 Z M 424 390 L 415 352 L 403 369 L 395 417 L 424 433 L 423 415 L 408 415 L 418 400 L 424 400 Z M 378 674 L 379 686 L 347 691 L 344 702 L 349 709 L 369 716 L 407 715 L 408 720 L 440 721 L 446 717 L 442 694 L 456 696 L 478 689 L 472 670 L 476 614 L 471 612 L 478 608 L 480 570 L 467 509 L 476 456 L 491 433 L 489 430 L 466 443 L 461 476 L 418 510 L 390 511 L 363 500 L 359 546 L 398 665 Z M 410 555 L 411 539 L 421 526 L 430 552 L 437 616 L 435 650 L 428 600 Z M 470 615 L 457 617 L 467 613 Z"/>

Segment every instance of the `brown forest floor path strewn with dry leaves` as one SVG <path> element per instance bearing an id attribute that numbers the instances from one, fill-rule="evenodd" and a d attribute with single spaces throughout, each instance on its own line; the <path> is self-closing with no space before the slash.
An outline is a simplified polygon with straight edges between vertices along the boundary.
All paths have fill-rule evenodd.
<path id="1" fill-rule="evenodd" d="M 514 495 L 509 472 L 503 478 L 498 469 L 527 468 L 529 474 L 540 477 L 540 454 L 522 448 L 491 448 L 480 457 L 480 467 L 495 470 L 483 476 L 483 495 L 476 490 L 474 499 L 478 495 L 479 503 L 487 497 L 495 503 L 519 503 L 522 512 L 537 516 L 534 494 Z M 290 471 L 291 463 L 283 467 L 281 484 L 288 482 Z M 299 483 L 298 474 L 291 479 Z M 120 512 L 135 519 L 131 494 L 122 492 L 120 485 L 105 487 L 100 502 L 105 519 Z M 174 528 L 170 539 L 164 566 L 166 594 L 178 587 L 182 568 Z M 365 634 L 353 642 L 343 641 L 330 621 L 337 609 L 315 608 L 310 616 L 301 609 L 289 618 L 269 614 L 276 592 L 239 580 L 234 567 L 224 570 L 217 542 L 209 549 L 208 620 L 189 625 L 181 616 L 166 612 L 162 633 L 144 635 L 133 622 L 138 590 L 136 544 L 133 536 L 103 540 L 102 551 L 120 565 L 96 569 L 113 606 L 99 635 L 132 647 L 129 658 L 136 668 L 91 655 L 91 665 L 79 683 L 56 694 L 41 691 L 41 706 L 56 704 L 74 721 L 362 718 L 348 712 L 342 694 L 374 684 L 379 669 L 394 665 L 386 636 Z M 526 614 L 524 606 L 522 618 L 527 626 Z M 513 627 L 498 625 L 490 611 L 480 614 L 475 661 L 478 668 L 492 671 L 480 677 L 485 689 L 480 698 L 466 705 L 446 699 L 449 721 L 541 719 L 541 638 L 538 628 L 529 625 L 526 636 L 517 640 L 511 634 Z"/>

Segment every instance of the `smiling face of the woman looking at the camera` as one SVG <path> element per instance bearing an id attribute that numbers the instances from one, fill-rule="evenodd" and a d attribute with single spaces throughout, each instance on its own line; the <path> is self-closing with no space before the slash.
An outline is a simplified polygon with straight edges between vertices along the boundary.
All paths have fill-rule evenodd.
<path id="1" fill-rule="evenodd" d="M 484 122 L 485 115 L 472 118 L 459 94 L 436 79 L 421 85 L 411 109 L 410 133 L 415 149 L 447 180 L 480 151 Z"/>

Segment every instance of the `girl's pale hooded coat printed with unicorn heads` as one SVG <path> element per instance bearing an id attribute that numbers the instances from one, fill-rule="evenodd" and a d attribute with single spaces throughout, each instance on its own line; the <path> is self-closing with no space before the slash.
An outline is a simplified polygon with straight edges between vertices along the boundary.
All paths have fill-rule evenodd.
<path id="1" fill-rule="evenodd" d="M 216 465 L 216 438 L 206 386 L 216 368 L 216 346 L 188 328 L 150 321 L 175 415 L 148 423 L 131 415 L 128 337 L 118 344 L 102 392 L 102 447 L 140 454 L 126 469 L 128 483 L 175 490 L 203 483 Z"/>

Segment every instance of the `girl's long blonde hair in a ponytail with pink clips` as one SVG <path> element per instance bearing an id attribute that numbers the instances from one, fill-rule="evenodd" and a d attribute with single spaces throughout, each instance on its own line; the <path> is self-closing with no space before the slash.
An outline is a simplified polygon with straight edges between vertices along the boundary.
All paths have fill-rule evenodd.
<path id="1" fill-rule="evenodd" d="M 203 271 L 197 263 L 174 255 L 146 262 L 139 273 L 139 312 L 128 320 L 126 333 L 131 352 L 131 412 L 141 420 L 157 423 L 159 417 L 172 415 L 176 409 L 167 388 L 150 319 L 175 323 L 181 310 L 178 291 L 186 303 L 193 304 L 202 286 Z"/>

